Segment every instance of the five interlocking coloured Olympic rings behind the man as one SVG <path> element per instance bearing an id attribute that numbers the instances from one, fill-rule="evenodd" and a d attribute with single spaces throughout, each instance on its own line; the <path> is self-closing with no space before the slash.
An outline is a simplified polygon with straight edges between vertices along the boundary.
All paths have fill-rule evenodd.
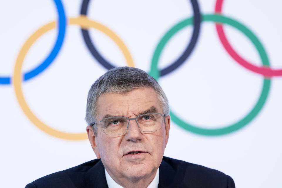
<path id="1" fill-rule="evenodd" d="M 28 117 L 28 119 L 36 125 L 39 129 L 46 132 L 49 135 L 66 139 L 66 140 L 84 140 L 87 138 L 87 135 L 85 133 L 67 133 L 55 130 L 48 125 L 44 124 L 41 120 L 39 120 L 31 111 L 31 109 L 28 107 L 24 95 L 22 92 L 22 82 L 27 81 L 31 78 L 36 77 L 38 74 L 40 74 L 43 70 L 45 70 L 55 59 L 58 52 L 60 51 L 60 48 L 62 46 L 64 36 L 65 36 L 65 30 L 66 30 L 66 16 L 63 9 L 63 5 L 60 0 L 53 0 L 56 4 L 56 8 L 58 11 L 58 36 L 56 43 L 53 46 L 52 51 L 49 53 L 48 57 L 40 63 L 36 68 L 33 70 L 30 70 L 27 73 L 24 73 L 22 76 L 22 65 L 24 58 L 26 56 L 26 53 L 28 52 L 29 48 L 32 46 L 32 44 L 41 37 L 44 33 L 50 31 L 51 29 L 56 28 L 56 22 L 53 21 L 51 23 L 48 23 L 44 25 L 43 27 L 39 28 L 36 32 L 34 32 L 28 40 L 24 43 L 22 46 L 18 57 L 16 59 L 15 68 L 14 68 L 14 74 L 12 78 L 10 77 L 0 77 L 0 84 L 10 84 L 13 83 L 14 90 L 16 93 L 16 98 L 19 102 L 19 105 L 25 115 Z M 171 118 L 172 121 L 175 122 L 180 127 L 194 132 L 196 134 L 200 135 L 224 135 L 231 132 L 234 132 L 236 130 L 239 130 L 241 127 L 244 127 L 247 125 L 251 120 L 258 115 L 260 110 L 263 108 L 264 103 L 266 102 L 271 80 L 270 78 L 273 76 L 281 76 L 282 75 L 282 69 L 281 70 L 274 70 L 270 68 L 270 64 L 268 61 L 268 56 L 266 54 L 266 51 L 264 47 L 262 46 L 259 39 L 255 36 L 255 34 L 249 30 L 246 26 L 239 23 L 238 21 L 235 21 L 234 19 L 231 19 L 229 17 L 221 15 L 221 7 L 223 4 L 223 0 L 217 0 L 216 6 L 215 6 L 215 14 L 200 14 L 199 5 L 196 0 L 190 0 L 190 3 L 193 7 L 193 13 L 194 16 L 188 19 L 184 19 L 180 21 L 179 23 L 175 24 L 171 29 L 169 29 L 165 35 L 161 38 L 160 42 L 157 44 L 157 47 L 154 51 L 154 55 L 151 60 L 151 70 L 150 75 L 152 75 L 156 80 L 160 79 L 160 77 L 172 72 L 173 70 L 177 69 L 179 66 L 182 65 L 182 63 L 187 60 L 189 55 L 192 53 L 195 44 L 197 43 L 200 26 L 203 22 L 215 22 L 216 25 L 216 31 L 219 36 L 219 39 L 226 49 L 226 51 L 229 53 L 229 55 L 238 62 L 241 66 L 249 69 L 250 71 L 253 71 L 255 73 L 261 74 L 264 76 L 263 81 L 263 88 L 261 90 L 261 94 L 259 97 L 259 100 L 257 101 L 256 105 L 253 107 L 253 109 L 241 120 L 238 122 L 231 124 L 231 125 L 225 125 L 223 128 L 217 128 L 217 129 L 204 129 L 199 128 L 197 125 L 191 125 L 184 120 L 180 119 L 173 111 L 171 112 Z M 88 47 L 89 51 L 93 55 L 93 57 L 105 68 L 111 69 L 114 66 L 105 60 L 103 56 L 101 56 L 98 51 L 96 50 L 93 42 L 90 39 L 88 28 L 96 28 L 100 30 L 101 32 L 105 33 L 107 36 L 109 36 L 120 48 L 123 55 L 125 56 L 127 66 L 134 66 L 132 57 L 130 55 L 129 50 L 125 46 L 125 44 L 122 42 L 122 40 L 109 28 L 106 26 L 103 26 L 102 24 L 91 21 L 87 18 L 87 9 L 88 9 L 89 0 L 83 0 L 81 10 L 80 10 L 80 17 L 77 18 L 69 18 L 67 19 L 69 25 L 78 25 L 81 27 L 81 32 L 84 38 L 84 41 L 86 43 L 86 46 Z M 224 29 L 222 27 L 222 24 L 228 24 L 229 26 L 232 26 L 233 28 L 238 29 L 242 33 L 244 33 L 250 41 L 254 44 L 257 51 L 259 52 L 259 56 L 261 58 L 262 66 L 255 66 L 252 63 L 244 60 L 244 58 L 240 57 L 238 53 L 232 48 L 230 45 L 228 39 L 226 38 L 226 35 L 224 33 Z M 164 49 L 164 46 L 167 44 L 167 42 L 181 29 L 187 27 L 187 26 L 193 26 L 193 33 L 191 36 L 191 39 L 189 41 L 189 44 L 187 45 L 187 48 L 185 49 L 184 53 L 174 62 L 172 62 L 169 66 L 166 68 L 159 70 L 158 69 L 158 62 L 160 55 L 162 53 L 162 50 Z M 13 80 L 13 82 L 11 82 Z"/>

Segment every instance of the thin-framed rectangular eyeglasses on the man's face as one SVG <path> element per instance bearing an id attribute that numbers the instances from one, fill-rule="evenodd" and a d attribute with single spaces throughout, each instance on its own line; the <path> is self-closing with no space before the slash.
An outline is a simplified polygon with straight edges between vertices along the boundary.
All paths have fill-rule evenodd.
<path id="1" fill-rule="evenodd" d="M 161 113 L 142 114 L 135 118 L 107 117 L 101 121 L 91 123 L 91 125 L 102 123 L 103 131 L 106 135 L 122 135 L 126 132 L 129 121 L 135 120 L 140 130 L 152 132 L 162 128 L 163 117 L 165 117 L 165 114 Z"/>

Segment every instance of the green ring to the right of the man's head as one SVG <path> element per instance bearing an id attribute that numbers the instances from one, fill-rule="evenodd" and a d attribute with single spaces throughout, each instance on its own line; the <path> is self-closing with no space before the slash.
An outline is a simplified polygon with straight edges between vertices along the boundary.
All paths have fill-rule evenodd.
<path id="1" fill-rule="evenodd" d="M 214 21 L 217 23 L 228 24 L 230 26 L 233 26 L 234 28 L 237 28 L 239 31 L 244 33 L 254 44 L 257 51 L 259 52 L 259 56 L 261 58 L 262 64 L 264 66 L 269 66 L 268 57 L 266 55 L 266 51 L 264 50 L 261 42 L 254 35 L 254 33 L 252 33 L 248 28 L 246 28 L 246 26 L 240 24 L 239 22 L 231 18 L 222 16 L 219 14 L 202 15 L 202 21 Z M 158 64 L 160 54 L 164 46 L 175 33 L 177 33 L 178 31 L 180 31 L 182 28 L 186 26 L 192 25 L 193 24 L 192 22 L 193 22 L 193 18 L 185 19 L 179 22 L 178 24 L 173 26 L 160 40 L 159 44 L 157 45 L 157 48 L 155 49 L 155 52 L 152 58 L 151 71 L 150 71 L 150 75 L 153 76 L 156 80 L 160 77 L 160 70 L 157 68 L 157 64 Z M 271 83 L 270 78 L 264 78 L 261 95 L 256 105 L 243 119 L 239 120 L 238 122 L 234 124 L 227 125 L 223 128 L 216 128 L 216 129 L 199 128 L 187 122 L 184 122 L 179 117 L 177 117 L 172 111 L 170 112 L 171 119 L 174 123 L 176 123 L 180 127 L 190 132 L 194 132 L 200 135 L 216 136 L 216 135 L 224 135 L 224 134 L 234 132 L 244 127 L 245 125 L 247 125 L 249 122 L 251 122 L 251 120 L 254 119 L 254 117 L 256 117 L 256 115 L 258 115 L 259 111 L 262 109 L 264 103 L 266 102 L 266 98 L 268 96 L 269 89 L 270 89 L 270 83 Z"/>

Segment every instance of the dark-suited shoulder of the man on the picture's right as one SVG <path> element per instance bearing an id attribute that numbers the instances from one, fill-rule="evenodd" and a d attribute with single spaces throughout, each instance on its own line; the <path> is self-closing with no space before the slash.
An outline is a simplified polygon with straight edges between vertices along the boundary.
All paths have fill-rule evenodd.
<path id="1" fill-rule="evenodd" d="M 235 187 L 230 176 L 202 165 L 163 157 L 160 166 L 160 181 L 174 182 L 178 187 Z M 167 182 L 168 183 L 168 182 Z"/>

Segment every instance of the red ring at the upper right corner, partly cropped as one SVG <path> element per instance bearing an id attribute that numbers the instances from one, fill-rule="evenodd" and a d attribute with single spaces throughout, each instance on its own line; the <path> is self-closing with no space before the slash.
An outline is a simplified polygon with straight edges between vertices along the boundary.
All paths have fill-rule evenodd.
<path id="1" fill-rule="evenodd" d="M 215 4 L 215 14 L 221 14 L 221 9 L 222 9 L 222 3 L 223 0 L 217 0 Z M 255 72 L 259 73 L 265 77 L 270 77 L 270 76 L 281 76 L 282 75 L 282 69 L 271 69 L 266 66 L 255 66 L 252 63 L 249 63 L 248 61 L 244 60 L 239 56 L 238 53 L 232 48 L 230 43 L 227 41 L 226 35 L 223 31 L 223 27 L 221 24 L 216 24 L 216 31 L 219 36 L 219 39 L 224 46 L 225 50 L 229 53 L 229 55 L 237 61 L 241 66 Z"/>

